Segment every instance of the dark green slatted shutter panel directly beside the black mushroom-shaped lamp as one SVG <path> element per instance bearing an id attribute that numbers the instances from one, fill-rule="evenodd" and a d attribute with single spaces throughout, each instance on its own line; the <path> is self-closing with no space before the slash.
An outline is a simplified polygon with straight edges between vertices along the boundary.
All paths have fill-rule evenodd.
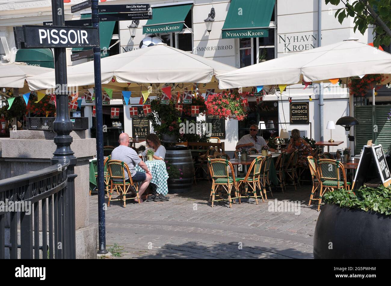
<path id="1" fill-rule="evenodd" d="M 373 107 L 372 105 L 355 106 L 354 117 L 359 121 L 359 125 L 354 126 L 355 149 L 354 154 L 360 154 L 362 146 L 366 145 L 368 140 L 375 140 L 373 135 Z"/>

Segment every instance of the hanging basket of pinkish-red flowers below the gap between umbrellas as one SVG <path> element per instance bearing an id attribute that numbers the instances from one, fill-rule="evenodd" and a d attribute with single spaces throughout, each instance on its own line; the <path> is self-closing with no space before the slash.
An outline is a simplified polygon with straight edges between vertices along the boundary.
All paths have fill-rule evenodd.
<path id="1" fill-rule="evenodd" d="M 242 97 L 247 98 L 249 95 L 249 92 L 235 91 L 211 94 L 205 102 L 208 114 L 219 115 L 224 119 L 243 120 L 247 116 L 247 111 L 242 103 L 247 102 L 247 99 L 242 99 Z"/>

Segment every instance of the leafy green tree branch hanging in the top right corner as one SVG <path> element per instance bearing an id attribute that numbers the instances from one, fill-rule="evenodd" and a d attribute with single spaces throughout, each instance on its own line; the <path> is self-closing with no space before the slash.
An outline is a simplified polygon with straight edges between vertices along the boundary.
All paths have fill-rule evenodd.
<path id="1" fill-rule="evenodd" d="M 389 46 L 391 41 L 391 1 L 390 0 L 355 0 L 352 4 L 349 0 L 325 0 L 326 4 L 338 6 L 341 2 L 345 7 L 335 12 L 335 18 L 339 23 L 348 17 L 354 18 L 354 32 L 359 30 L 364 35 L 369 25 L 374 25 L 375 37 L 373 45 Z"/>

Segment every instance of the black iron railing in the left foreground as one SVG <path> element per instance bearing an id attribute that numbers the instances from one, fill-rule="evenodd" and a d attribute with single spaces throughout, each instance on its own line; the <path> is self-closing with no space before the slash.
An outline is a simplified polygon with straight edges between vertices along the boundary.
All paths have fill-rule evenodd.
<path id="1" fill-rule="evenodd" d="M 68 165 L 0 180 L 0 259 L 75 258 L 75 175 L 68 176 Z"/>

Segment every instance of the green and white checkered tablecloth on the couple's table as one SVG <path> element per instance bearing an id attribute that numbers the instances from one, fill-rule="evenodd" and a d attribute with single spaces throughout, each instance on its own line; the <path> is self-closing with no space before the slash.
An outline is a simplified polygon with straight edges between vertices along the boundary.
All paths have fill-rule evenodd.
<path id="1" fill-rule="evenodd" d="M 164 160 L 147 161 L 145 164 L 147 164 L 149 171 L 151 171 L 151 183 L 154 184 L 152 185 L 154 190 L 159 194 L 167 195 L 169 192 L 169 188 L 167 187 L 169 174 L 167 173 L 166 163 Z M 136 165 L 136 171 L 145 173 L 145 171 L 138 165 Z"/>

